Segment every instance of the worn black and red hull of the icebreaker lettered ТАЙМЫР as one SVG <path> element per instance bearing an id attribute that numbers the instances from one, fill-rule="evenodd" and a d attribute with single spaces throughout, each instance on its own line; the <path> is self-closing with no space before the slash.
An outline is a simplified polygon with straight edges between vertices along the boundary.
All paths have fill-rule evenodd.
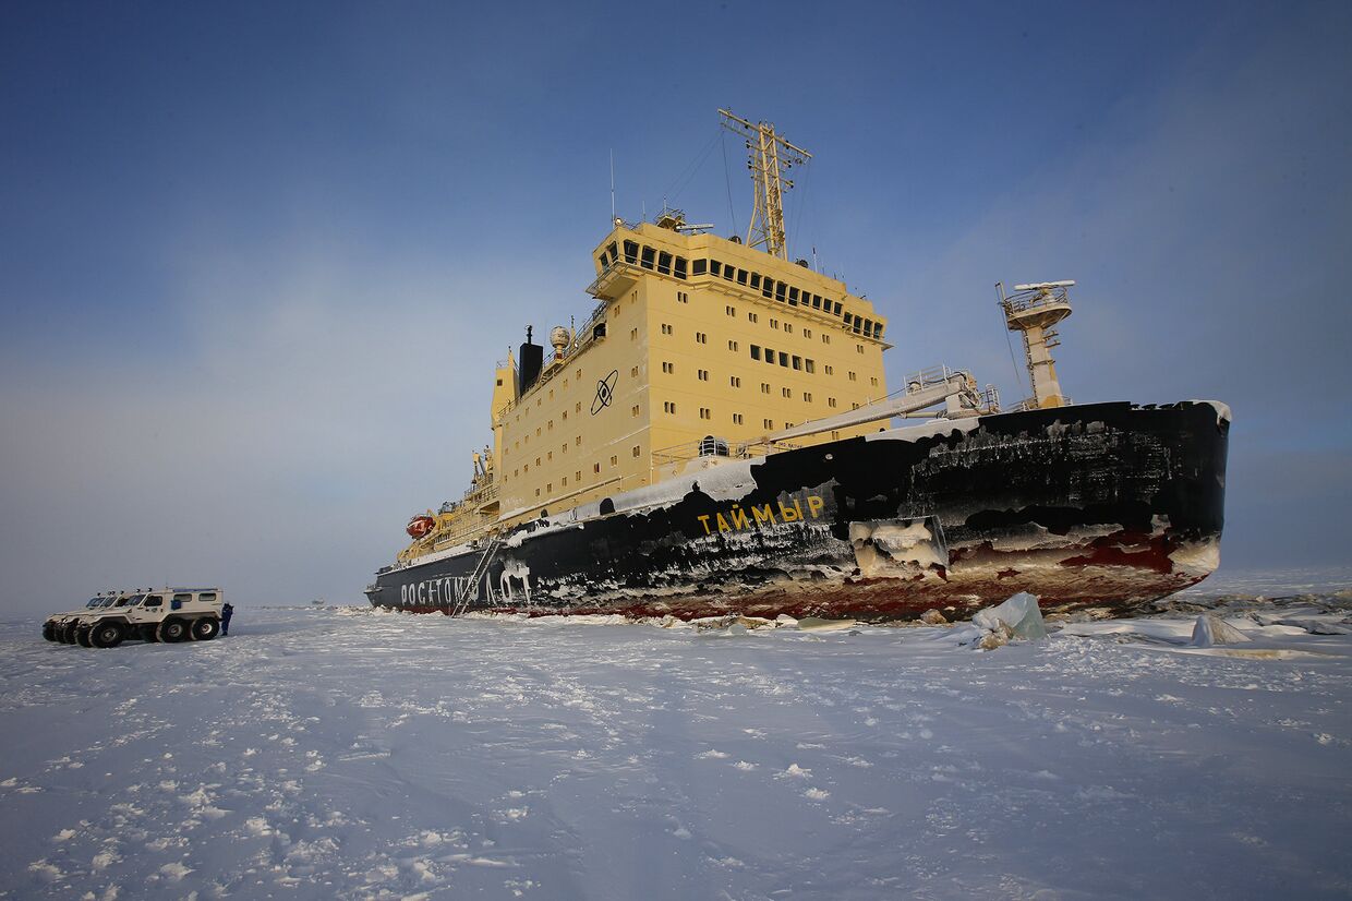
<path id="1" fill-rule="evenodd" d="M 1220 560 L 1229 411 L 1099 403 L 707 459 L 377 574 L 410 611 L 913 617 L 1130 606 Z"/>

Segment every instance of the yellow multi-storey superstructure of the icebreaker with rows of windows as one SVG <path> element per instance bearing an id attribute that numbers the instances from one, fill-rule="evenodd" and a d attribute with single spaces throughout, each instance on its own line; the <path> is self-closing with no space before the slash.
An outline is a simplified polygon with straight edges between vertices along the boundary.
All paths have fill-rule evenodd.
<path id="1" fill-rule="evenodd" d="M 529 340 L 522 359 L 499 364 L 492 449 L 476 459 L 475 484 L 400 559 L 652 484 L 702 455 L 877 430 L 775 442 L 777 432 L 884 398 L 888 345 L 872 303 L 768 246 L 775 253 L 699 234 L 677 211 L 656 223 L 615 219 L 592 252 L 592 315 L 552 331 L 538 376 Z"/>

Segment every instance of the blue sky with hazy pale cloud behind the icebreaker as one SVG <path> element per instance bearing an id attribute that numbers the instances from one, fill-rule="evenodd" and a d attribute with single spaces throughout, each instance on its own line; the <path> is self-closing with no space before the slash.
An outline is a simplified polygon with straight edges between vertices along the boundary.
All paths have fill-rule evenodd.
<path id="1" fill-rule="evenodd" d="M 5 4 L 3 603 L 360 601 L 493 360 L 589 311 L 611 152 L 626 218 L 745 230 L 721 106 L 815 154 L 792 249 L 894 383 L 1022 396 L 992 284 L 1076 279 L 1072 396 L 1234 407 L 1224 565 L 1344 564 L 1349 39 L 1345 3 Z"/>

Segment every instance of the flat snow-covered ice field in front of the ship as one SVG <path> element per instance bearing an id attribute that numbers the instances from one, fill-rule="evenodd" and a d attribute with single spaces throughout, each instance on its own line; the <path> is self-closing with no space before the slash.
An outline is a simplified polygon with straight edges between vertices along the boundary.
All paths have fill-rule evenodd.
<path id="1" fill-rule="evenodd" d="M 1194 598 L 1197 601 L 1198 598 Z M 1347 897 L 1347 595 L 971 626 L 0 624 L 0 897 Z M 1324 632 L 1324 633 L 1321 633 Z"/>

